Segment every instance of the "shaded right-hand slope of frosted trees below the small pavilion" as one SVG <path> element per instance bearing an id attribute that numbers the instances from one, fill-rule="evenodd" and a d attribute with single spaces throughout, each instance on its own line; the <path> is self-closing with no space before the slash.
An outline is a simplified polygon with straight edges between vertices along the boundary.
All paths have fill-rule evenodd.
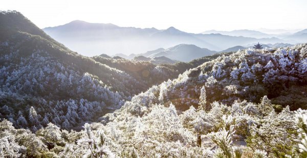
<path id="1" fill-rule="evenodd" d="M 146 94 L 155 95 L 151 103 L 174 104 L 178 110 L 198 107 L 202 86 L 206 88 L 207 106 L 213 101 L 226 104 L 234 100 L 258 102 L 267 95 L 272 103 L 290 109 L 307 109 L 307 44 L 269 51 L 245 49 L 230 56 L 201 62 L 175 80 L 153 87 Z M 195 60 L 194 62 L 197 62 Z M 291 93 L 289 93 L 291 91 Z M 151 94 L 152 93 L 152 94 Z M 139 95 L 133 100 L 143 100 Z M 148 102 L 138 102 L 148 105 Z"/>

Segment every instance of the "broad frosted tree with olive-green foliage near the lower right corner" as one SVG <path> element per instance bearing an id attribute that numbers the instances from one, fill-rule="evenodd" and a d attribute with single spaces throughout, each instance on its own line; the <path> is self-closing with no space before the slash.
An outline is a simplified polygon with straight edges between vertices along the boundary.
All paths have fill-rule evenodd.
<path id="1" fill-rule="evenodd" d="M 250 147 L 265 151 L 267 156 L 280 157 L 295 154 L 296 137 L 294 113 L 287 107 L 279 114 L 272 111 L 251 125 L 247 142 Z"/>

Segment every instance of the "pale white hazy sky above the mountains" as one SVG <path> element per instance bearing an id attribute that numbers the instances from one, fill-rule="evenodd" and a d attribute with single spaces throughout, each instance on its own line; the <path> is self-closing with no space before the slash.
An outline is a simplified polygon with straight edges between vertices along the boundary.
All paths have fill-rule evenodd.
<path id="1" fill-rule="evenodd" d="M 17 10 L 39 28 L 73 20 L 114 23 L 120 27 L 207 30 L 307 29 L 306 0 L 100 0 L 2 1 L 0 10 Z"/>

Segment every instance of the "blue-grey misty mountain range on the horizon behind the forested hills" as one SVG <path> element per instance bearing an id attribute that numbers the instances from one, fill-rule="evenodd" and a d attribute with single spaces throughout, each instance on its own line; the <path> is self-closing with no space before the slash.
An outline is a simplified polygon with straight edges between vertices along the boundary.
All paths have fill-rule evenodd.
<path id="1" fill-rule="evenodd" d="M 222 51 L 237 45 L 244 46 L 257 42 L 295 44 L 307 41 L 304 32 L 291 35 L 283 34 L 280 37 L 250 30 L 211 31 L 205 32 L 208 34 L 192 34 L 173 27 L 166 30 L 155 28 L 140 29 L 119 27 L 111 23 L 89 23 L 80 20 L 58 27 L 45 28 L 43 31 L 84 56 L 98 56 L 100 54 L 109 56 L 115 54 L 137 55 L 147 50 L 162 47 L 169 48 L 179 44 L 192 44 L 213 51 Z M 127 58 L 132 59 L 134 57 Z"/>

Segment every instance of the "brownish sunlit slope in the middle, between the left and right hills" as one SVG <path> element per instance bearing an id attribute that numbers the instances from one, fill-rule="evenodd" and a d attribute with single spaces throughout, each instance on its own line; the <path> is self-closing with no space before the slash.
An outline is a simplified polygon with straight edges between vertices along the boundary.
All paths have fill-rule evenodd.
<path id="1" fill-rule="evenodd" d="M 144 59 L 149 61 L 131 61 L 120 57 L 104 58 L 102 56 L 95 56 L 92 58 L 96 62 L 124 71 L 125 73 L 134 77 L 137 81 L 145 83 L 147 88 L 149 88 L 153 85 L 159 85 L 168 79 L 176 78 L 180 73 L 183 73 L 188 69 L 198 67 L 204 62 L 211 61 L 222 55 L 229 56 L 231 54 L 232 52 L 214 54 L 212 56 L 192 60 L 188 63 L 176 62 L 171 65 L 169 63 L 174 61 L 165 57 L 157 57 L 153 59 L 144 57 Z M 161 63 L 164 61 L 168 61 L 168 64 Z"/>

